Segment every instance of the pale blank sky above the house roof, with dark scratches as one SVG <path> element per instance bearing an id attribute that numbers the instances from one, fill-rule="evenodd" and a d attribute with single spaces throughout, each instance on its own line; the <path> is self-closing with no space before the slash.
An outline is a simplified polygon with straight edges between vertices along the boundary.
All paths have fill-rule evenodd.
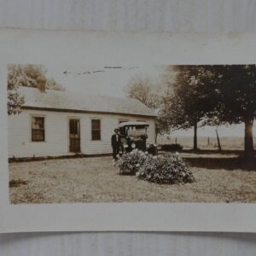
<path id="1" fill-rule="evenodd" d="M 163 73 L 161 67 L 84 67 L 79 70 L 66 69 L 65 67 L 47 67 L 47 70 L 47 77 L 54 78 L 67 91 L 118 97 L 125 97 L 125 86 L 133 77 L 148 76 L 150 79 L 159 79 Z M 66 71 L 67 74 L 64 73 Z M 90 73 L 78 74 L 84 72 Z"/>

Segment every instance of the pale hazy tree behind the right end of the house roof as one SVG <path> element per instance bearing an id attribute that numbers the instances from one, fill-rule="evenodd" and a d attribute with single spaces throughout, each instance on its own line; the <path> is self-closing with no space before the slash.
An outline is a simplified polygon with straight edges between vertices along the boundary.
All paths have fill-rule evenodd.
<path id="1" fill-rule="evenodd" d="M 154 113 L 160 113 L 160 108 L 162 104 L 162 92 L 159 90 L 159 85 L 157 82 L 154 83 L 148 77 L 136 76 L 126 87 L 127 96 L 137 99 L 143 102 L 148 108 L 151 108 Z M 166 124 L 166 119 L 159 115 L 155 119 L 155 138 L 154 141 L 157 143 L 157 137 L 168 131 L 168 126 Z"/>

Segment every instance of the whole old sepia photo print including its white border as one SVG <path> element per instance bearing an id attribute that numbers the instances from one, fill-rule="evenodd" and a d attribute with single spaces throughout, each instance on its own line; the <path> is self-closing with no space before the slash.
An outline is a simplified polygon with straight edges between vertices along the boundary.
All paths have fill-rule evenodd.
<path id="1" fill-rule="evenodd" d="M 0 232 L 255 231 L 255 45 L 0 30 Z"/>

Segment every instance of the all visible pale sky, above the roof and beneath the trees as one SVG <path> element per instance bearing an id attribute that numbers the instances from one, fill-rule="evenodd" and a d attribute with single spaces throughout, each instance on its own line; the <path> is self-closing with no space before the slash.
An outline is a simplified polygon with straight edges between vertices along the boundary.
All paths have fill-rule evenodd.
<path id="1" fill-rule="evenodd" d="M 80 69 L 67 69 L 65 67 L 46 67 L 46 76 L 54 78 L 67 91 L 86 93 L 100 96 L 125 97 L 125 87 L 129 81 L 136 77 L 148 77 L 150 80 L 159 83 L 164 73 L 164 67 L 81 67 Z M 102 71 L 103 72 L 97 72 Z M 67 74 L 64 72 L 67 71 Z M 90 72 L 90 73 L 86 73 Z M 96 72 L 96 73 L 93 73 Z M 84 73 L 84 74 L 78 74 Z M 198 129 L 198 137 L 216 137 L 218 129 L 219 137 L 243 137 L 244 125 L 222 125 L 219 127 L 202 127 Z M 187 131 L 172 131 L 174 137 L 192 137 L 193 129 Z M 256 137 L 256 125 L 253 125 L 253 135 Z"/>

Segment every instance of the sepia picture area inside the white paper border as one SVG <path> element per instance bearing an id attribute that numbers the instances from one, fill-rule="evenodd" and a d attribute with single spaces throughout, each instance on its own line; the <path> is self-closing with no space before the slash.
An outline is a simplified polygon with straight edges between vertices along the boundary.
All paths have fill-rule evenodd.
<path id="1" fill-rule="evenodd" d="M 256 202 L 255 65 L 8 65 L 9 201 Z"/>

